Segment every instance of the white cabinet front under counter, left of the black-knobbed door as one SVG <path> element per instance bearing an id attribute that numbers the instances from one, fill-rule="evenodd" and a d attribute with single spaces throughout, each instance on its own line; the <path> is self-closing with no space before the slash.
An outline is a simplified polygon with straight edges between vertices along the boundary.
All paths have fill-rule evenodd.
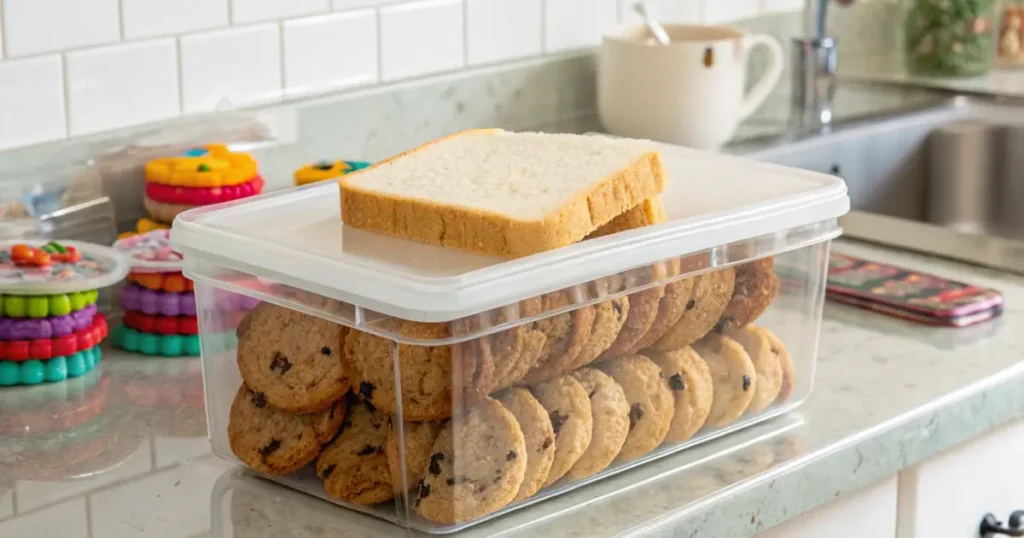
<path id="1" fill-rule="evenodd" d="M 896 477 L 840 496 L 761 538 L 894 538 Z"/>

